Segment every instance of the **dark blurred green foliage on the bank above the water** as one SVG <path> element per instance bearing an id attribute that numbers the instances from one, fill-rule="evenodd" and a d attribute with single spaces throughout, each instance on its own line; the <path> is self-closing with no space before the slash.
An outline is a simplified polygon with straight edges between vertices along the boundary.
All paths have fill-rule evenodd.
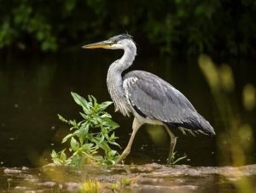
<path id="1" fill-rule="evenodd" d="M 0 48 L 56 51 L 125 31 L 164 53 L 253 54 L 254 0 L 4 0 Z"/>

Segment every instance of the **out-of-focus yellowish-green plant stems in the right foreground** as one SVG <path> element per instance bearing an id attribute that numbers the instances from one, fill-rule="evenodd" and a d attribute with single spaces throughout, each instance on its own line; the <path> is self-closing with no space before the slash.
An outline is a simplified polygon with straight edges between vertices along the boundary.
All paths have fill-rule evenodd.
<path id="1" fill-rule="evenodd" d="M 199 57 L 199 66 L 212 91 L 218 109 L 219 126 L 217 133 L 218 161 L 220 165 L 236 166 L 236 177 L 241 175 L 237 166 L 243 166 L 252 162 L 255 139 L 253 126 L 244 120 L 241 110 L 237 105 L 231 104 L 230 94 L 235 91 L 235 77 L 230 65 L 216 65 L 205 54 Z M 255 108 L 256 90 L 252 84 L 243 88 L 242 101 L 245 110 L 252 111 Z M 237 101 L 236 101 L 237 102 Z M 248 178 L 232 180 L 237 192 L 253 192 L 253 183 Z"/>

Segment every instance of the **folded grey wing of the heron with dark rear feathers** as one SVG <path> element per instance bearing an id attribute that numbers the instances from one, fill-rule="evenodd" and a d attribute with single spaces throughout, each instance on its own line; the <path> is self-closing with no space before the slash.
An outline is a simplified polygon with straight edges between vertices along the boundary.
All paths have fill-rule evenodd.
<path id="1" fill-rule="evenodd" d="M 166 122 L 174 128 L 200 129 L 214 134 L 212 126 L 189 100 L 171 84 L 146 71 L 131 71 L 124 77 L 126 98 L 139 113 Z"/>

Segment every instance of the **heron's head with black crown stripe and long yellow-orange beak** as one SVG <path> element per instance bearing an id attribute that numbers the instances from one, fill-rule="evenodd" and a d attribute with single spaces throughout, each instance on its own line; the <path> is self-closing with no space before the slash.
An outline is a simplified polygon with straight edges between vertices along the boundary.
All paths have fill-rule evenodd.
<path id="1" fill-rule="evenodd" d="M 131 47 L 135 47 L 132 37 L 128 34 L 121 34 L 99 43 L 85 44 L 82 48 L 125 49 Z"/>

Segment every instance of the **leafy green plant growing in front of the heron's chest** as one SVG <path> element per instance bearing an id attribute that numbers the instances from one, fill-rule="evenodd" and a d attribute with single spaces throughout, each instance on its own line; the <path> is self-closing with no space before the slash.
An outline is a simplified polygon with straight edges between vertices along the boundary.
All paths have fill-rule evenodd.
<path id="1" fill-rule="evenodd" d="M 65 119 L 58 115 L 62 122 L 71 125 L 70 131 L 62 139 L 62 143 L 69 141 L 69 155 L 66 150 L 56 152 L 52 150 L 51 157 L 55 164 L 81 165 L 90 162 L 101 163 L 103 165 L 113 165 L 119 156 L 116 150 L 112 150 L 109 145 L 119 146 L 115 142 L 118 139 L 114 135 L 114 130 L 119 128 L 116 122 L 113 122 L 111 116 L 106 112 L 108 105 L 112 102 L 106 101 L 98 104 L 96 98 L 88 96 L 88 100 L 79 94 L 71 93 L 74 101 L 83 108 L 80 115 L 83 117 L 81 122 Z M 100 156 L 102 153 L 103 156 Z"/>

